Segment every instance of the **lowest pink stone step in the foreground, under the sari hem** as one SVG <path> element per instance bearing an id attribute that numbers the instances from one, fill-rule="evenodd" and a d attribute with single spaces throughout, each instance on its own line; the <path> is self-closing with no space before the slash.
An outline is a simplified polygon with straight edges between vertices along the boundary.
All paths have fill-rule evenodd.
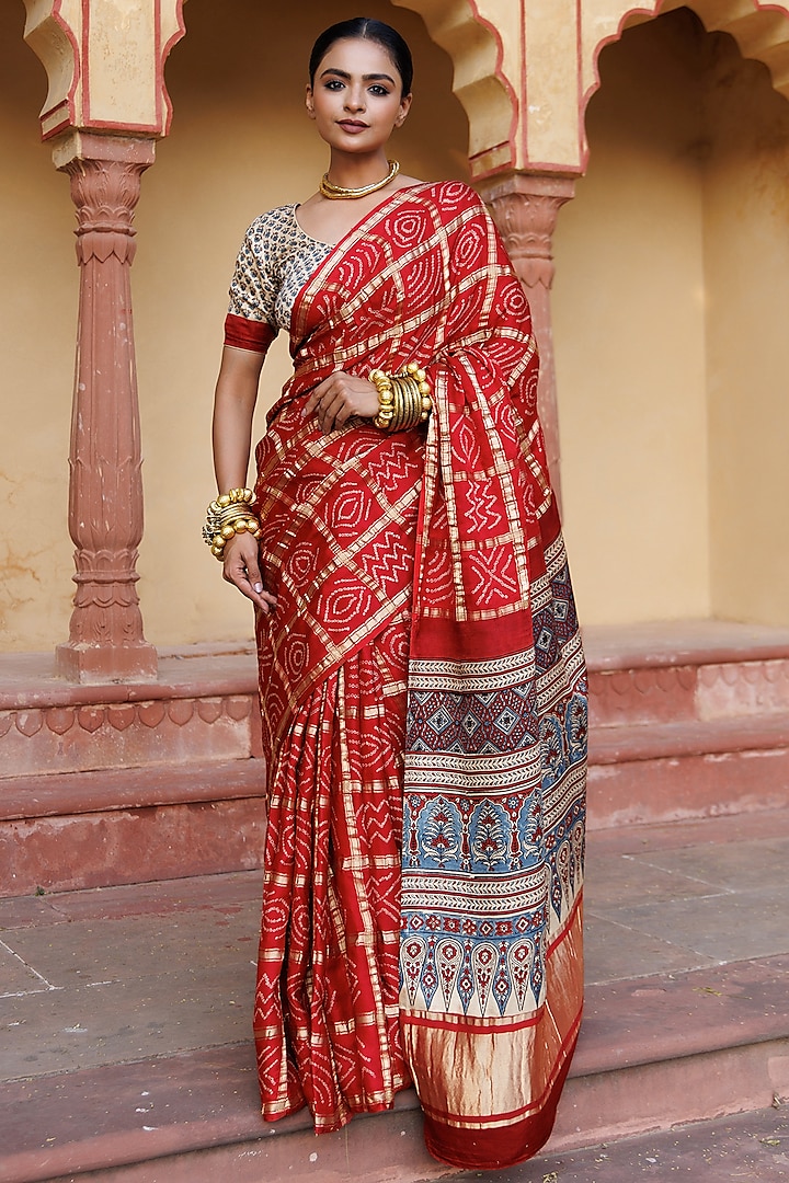
<path id="1" fill-rule="evenodd" d="M 547 1153 L 769 1106 L 789 1094 L 789 956 L 588 988 Z M 35 1114 L 35 1120 L 31 1120 Z M 250 1042 L 2 1086 L 0 1183 L 412 1183 L 461 1172 L 425 1151 L 412 1090 L 316 1139 L 258 1117 Z M 536 1175 L 532 1174 L 536 1171 Z M 539 1176 L 539 1158 L 524 1168 Z M 96 1176 L 93 1176 L 96 1177 Z"/>

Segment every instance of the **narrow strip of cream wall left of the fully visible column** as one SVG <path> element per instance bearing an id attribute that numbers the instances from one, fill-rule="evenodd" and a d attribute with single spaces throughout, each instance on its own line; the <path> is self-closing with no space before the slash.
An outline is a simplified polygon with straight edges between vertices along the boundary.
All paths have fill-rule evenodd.
<path id="1" fill-rule="evenodd" d="M 69 634 L 66 526 L 77 265 L 69 182 L 41 147 L 44 70 L 0 5 L 0 647 Z"/>

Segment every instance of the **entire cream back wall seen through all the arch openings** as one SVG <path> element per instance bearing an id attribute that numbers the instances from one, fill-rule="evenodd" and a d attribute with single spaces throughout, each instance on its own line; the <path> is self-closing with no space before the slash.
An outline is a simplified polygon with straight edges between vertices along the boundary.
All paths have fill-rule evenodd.
<path id="1" fill-rule="evenodd" d="M 189 0 L 187 38 L 168 65 L 173 135 L 143 179 L 132 271 L 147 494 L 140 589 L 147 635 L 164 646 L 251 632 L 199 528 L 213 492 L 208 421 L 233 257 L 257 213 L 305 196 L 325 166 L 302 115 L 305 60 L 328 19 L 355 12 L 296 7 L 297 20 L 292 7 L 264 12 L 257 0 Z M 583 0 L 587 37 L 590 13 L 602 19 L 604 8 L 610 24 L 614 7 Z M 448 58 L 402 5 L 366 8 L 415 50 L 403 166 L 466 176 Z M 44 72 L 22 25 L 21 5 L 0 7 L 0 645 L 51 649 L 67 634 L 72 590 L 78 276 L 67 181 L 38 137 Z M 687 12 L 628 30 L 601 63 L 589 175 L 560 218 L 554 292 L 582 618 L 712 612 L 787 623 L 788 108 L 762 67 Z M 266 403 L 287 370 L 280 341 L 264 371 Z"/>

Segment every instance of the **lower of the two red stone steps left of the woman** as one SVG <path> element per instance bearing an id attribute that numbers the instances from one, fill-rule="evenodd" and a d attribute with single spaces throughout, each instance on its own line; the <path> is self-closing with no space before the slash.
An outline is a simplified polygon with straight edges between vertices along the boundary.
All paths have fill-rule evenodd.
<path id="1" fill-rule="evenodd" d="M 0 780 L 0 897 L 259 867 L 265 763 Z"/>

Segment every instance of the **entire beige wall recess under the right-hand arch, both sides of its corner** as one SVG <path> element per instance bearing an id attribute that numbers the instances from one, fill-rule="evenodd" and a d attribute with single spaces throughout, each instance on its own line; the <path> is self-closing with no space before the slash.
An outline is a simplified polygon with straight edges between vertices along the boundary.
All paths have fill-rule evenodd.
<path id="1" fill-rule="evenodd" d="M 603 50 L 554 317 L 582 619 L 789 623 L 789 104 L 686 9 Z"/>

